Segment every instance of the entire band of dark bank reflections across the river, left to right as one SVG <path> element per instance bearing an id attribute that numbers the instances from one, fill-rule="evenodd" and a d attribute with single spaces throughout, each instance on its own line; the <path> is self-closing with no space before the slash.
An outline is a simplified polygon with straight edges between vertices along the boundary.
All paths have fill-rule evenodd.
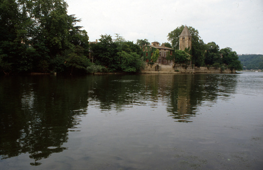
<path id="1" fill-rule="evenodd" d="M 201 106 L 233 98 L 240 74 L 20 76 L 0 80 L 1 159 L 28 153 L 31 165 L 67 150 L 88 107 L 100 112 L 166 108 L 175 122 L 193 122 Z M 261 77 L 262 78 L 262 77 Z M 252 82 L 255 83 L 255 78 Z M 244 85 L 249 86 L 249 85 Z M 247 88 L 248 89 L 248 88 Z M 253 89 L 252 89 L 253 90 Z"/>

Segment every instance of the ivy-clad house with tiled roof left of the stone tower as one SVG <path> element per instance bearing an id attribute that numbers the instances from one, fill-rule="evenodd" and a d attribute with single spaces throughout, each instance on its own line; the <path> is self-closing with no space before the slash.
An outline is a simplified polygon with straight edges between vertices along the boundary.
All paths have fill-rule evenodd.
<path id="1" fill-rule="evenodd" d="M 167 56 L 173 55 L 174 53 L 174 49 L 172 48 L 168 48 L 164 45 L 164 43 L 162 45 L 160 45 L 159 42 L 152 42 L 151 45 L 143 45 L 142 47 L 142 51 L 143 51 L 143 56 L 146 62 L 152 62 L 151 61 L 151 56 L 153 54 L 153 52 L 156 49 L 159 49 L 159 58 L 157 60 L 156 63 L 159 64 L 173 64 L 173 61 L 169 61 L 166 59 Z"/>

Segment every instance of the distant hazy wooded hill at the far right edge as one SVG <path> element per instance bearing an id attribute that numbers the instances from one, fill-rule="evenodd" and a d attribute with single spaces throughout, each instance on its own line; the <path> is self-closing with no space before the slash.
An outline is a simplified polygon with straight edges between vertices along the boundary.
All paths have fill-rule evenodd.
<path id="1" fill-rule="evenodd" d="M 242 54 L 239 55 L 239 60 L 243 65 L 244 70 L 263 69 L 263 55 L 262 54 Z M 244 67 L 245 66 L 245 67 Z"/>

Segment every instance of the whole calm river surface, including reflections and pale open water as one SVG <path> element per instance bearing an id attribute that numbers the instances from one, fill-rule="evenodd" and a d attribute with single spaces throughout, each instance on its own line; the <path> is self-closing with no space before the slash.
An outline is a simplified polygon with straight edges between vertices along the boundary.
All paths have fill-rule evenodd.
<path id="1" fill-rule="evenodd" d="M 0 169 L 263 167 L 263 73 L 0 78 Z"/>

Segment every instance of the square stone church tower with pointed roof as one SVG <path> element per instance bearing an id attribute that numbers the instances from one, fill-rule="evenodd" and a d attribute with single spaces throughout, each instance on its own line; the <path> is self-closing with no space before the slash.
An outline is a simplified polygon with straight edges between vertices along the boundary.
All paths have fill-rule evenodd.
<path id="1" fill-rule="evenodd" d="M 192 48 L 192 36 L 187 28 L 183 28 L 181 35 L 179 36 L 179 49 L 185 50 L 186 48 Z"/>

